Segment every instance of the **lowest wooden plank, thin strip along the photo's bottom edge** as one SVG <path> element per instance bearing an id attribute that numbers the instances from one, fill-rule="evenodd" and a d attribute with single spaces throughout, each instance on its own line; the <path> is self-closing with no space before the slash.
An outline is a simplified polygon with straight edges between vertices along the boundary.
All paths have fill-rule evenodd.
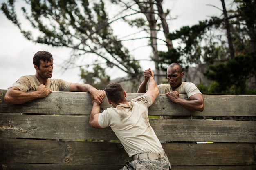
<path id="1" fill-rule="evenodd" d="M 110 165 L 56 165 L 56 164 L 24 164 L 0 163 L 4 170 L 118 170 L 122 166 Z M 171 166 L 172 170 L 256 170 L 256 165 L 239 166 Z"/>

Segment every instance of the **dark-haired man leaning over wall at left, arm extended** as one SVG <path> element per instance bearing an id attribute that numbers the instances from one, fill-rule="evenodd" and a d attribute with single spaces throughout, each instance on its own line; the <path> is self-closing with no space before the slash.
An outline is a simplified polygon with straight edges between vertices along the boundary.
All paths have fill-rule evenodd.
<path id="1" fill-rule="evenodd" d="M 4 101 L 9 104 L 22 104 L 33 99 L 43 98 L 52 91 L 88 92 L 93 101 L 101 104 L 104 95 L 90 84 L 70 83 L 62 79 L 51 79 L 53 71 L 53 57 L 47 51 L 38 51 L 33 57 L 35 75 L 22 76 L 12 84 Z M 29 92 L 29 93 L 27 93 Z"/>

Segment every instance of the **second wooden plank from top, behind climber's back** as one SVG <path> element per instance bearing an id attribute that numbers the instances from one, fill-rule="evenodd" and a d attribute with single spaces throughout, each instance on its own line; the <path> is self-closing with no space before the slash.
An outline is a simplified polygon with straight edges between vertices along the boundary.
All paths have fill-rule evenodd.
<path id="1" fill-rule="evenodd" d="M 88 116 L 0 114 L 0 137 L 117 140 Z M 150 119 L 160 141 L 256 142 L 256 121 Z"/>

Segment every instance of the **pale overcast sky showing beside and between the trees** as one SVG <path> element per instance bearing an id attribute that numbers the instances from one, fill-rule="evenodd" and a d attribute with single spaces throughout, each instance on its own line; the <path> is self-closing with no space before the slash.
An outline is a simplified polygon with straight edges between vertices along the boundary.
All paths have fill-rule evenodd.
<path id="1" fill-rule="evenodd" d="M 0 0 L 0 3 L 6 0 Z M 220 0 L 164 0 L 164 8 L 171 9 L 171 16 L 178 18 L 169 22 L 169 31 L 175 31 L 182 26 L 191 26 L 197 24 L 200 20 L 209 19 L 209 16 L 220 16 L 221 11 L 214 5 L 222 9 Z M 71 51 L 65 48 L 53 48 L 43 44 L 34 44 L 25 39 L 20 30 L 7 20 L 0 11 L 0 89 L 7 89 L 22 75 L 33 75 L 36 73 L 32 58 L 39 50 L 46 50 L 52 53 L 54 57 L 54 71 L 52 78 L 61 78 L 69 82 L 82 83 L 79 76 L 79 68 L 72 68 L 63 71 L 60 65 L 63 60 L 70 56 Z M 114 25 L 114 33 L 117 36 L 124 37 L 126 31 L 120 25 Z M 124 35 L 123 35 L 124 34 Z M 147 43 L 147 42 L 145 42 Z M 126 44 L 131 49 L 136 48 L 136 44 Z M 149 58 L 150 49 L 138 49 L 132 51 L 135 59 Z M 85 61 L 86 62 L 86 61 Z M 143 69 L 154 68 L 153 62 L 143 62 Z M 111 79 L 123 77 L 124 73 L 117 73 L 115 70 L 108 71 Z M 143 76 L 143 75 L 142 75 Z"/>

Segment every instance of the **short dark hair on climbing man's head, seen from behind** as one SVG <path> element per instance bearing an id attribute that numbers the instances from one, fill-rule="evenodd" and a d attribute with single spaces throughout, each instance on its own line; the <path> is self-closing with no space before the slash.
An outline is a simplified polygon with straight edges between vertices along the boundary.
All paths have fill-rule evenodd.
<path id="1" fill-rule="evenodd" d="M 125 100 L 124 89 L 119 83 L 110 83 L 105 87 L 108 99 L 115 104 Z"/>

